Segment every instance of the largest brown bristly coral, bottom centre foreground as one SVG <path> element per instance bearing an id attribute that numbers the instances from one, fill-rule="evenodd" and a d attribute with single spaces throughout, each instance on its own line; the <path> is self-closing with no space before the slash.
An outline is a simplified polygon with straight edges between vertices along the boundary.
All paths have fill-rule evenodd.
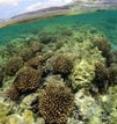
<path id="1" fill-rule="evenodd" d="M 73 99 L 69 88 L 50 84 L 40 97 L 40 114 L 48 124 L 65 124 L 73 108 Z"/>

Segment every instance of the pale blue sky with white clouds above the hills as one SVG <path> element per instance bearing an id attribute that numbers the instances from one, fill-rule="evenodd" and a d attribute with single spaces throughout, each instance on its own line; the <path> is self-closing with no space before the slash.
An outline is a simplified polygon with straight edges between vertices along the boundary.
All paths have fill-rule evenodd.
<path id="1" fill-rule="evenodd" d="M 0 19 L 43 9 L 52 6 L 62 6 L 73 1 L 88 1 L 88 0 L 0 0 Z M 117 0 L 98 0 L 98 1 L 116 1 Z"/>

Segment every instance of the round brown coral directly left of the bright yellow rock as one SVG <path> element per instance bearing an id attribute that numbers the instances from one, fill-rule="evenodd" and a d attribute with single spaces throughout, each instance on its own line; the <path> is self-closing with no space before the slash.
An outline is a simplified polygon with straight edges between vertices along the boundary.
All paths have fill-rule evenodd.
<path id="1" fill-rule="evenodd" d="M 54 73 L 59 73 L 59 74 L 63 74 L 63 75 L 69 74 L 73 67 L 71 60 L 62 55 L 58 56 L 53 61 L 52 66 L 53 66 Z"/>

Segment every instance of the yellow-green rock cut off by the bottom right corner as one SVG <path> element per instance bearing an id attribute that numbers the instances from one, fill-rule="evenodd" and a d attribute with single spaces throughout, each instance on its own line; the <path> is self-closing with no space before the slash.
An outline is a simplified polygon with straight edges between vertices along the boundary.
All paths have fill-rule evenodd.
<path id="1" fill-rule="evenodd" d="M 117 86 L 111 86 L 105 96 L 101 98 L 104 109 L 105 122 L 109 124 L 116 124 L 117 121 Z"/>

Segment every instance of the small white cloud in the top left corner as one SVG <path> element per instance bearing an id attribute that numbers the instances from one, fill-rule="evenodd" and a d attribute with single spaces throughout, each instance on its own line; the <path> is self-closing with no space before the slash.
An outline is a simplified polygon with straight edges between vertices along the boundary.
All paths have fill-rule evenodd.
<path id="1" fill-rule="evenodd" d="M 0 5 L 12 5 L 17 6 L 21 0 L 0 0 Z"/>

